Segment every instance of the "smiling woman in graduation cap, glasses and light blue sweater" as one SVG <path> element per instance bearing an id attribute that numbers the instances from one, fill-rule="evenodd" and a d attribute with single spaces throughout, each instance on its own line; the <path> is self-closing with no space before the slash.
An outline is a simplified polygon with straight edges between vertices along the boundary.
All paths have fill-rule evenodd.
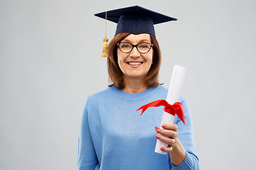
<path id="1" fill-rule="evenodd" d="M 96 16 L 104 18 L 106 13 Z M 118 23 L 108 47 L 111 85 L 87 98 L 79 133 L 78 170 L 91 169 L 199 169 L 192 119 L 184 96 L 186 124 L 160 125 L 162 108 L 140 116 L 140 106 L 165 99 L 167 89 L 158 82 L 161 52 L 153 24 L 176 20 L 140 6 L 108 11 Z M 167 154 L 155 153 L 157 139 L 167 143 Z"/>

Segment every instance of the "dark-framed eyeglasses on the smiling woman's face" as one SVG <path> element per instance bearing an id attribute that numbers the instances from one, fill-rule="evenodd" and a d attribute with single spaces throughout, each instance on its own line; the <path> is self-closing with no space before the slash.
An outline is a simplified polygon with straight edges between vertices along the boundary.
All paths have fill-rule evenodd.
<path id="1" fill-rule="evenodd" d="M 138 52 L 144 54 L 149 52 L 153 45 L 150 44 L 149 42 L 140 42 L 138 43 L 138 45 L 133 45 L 130 42 L 118 42 L 117 46 L 121 50 L 121 52 L 124 52 L 124 53 L 129 53 L 133 50 L 133 47 L 136 47 Z"/>

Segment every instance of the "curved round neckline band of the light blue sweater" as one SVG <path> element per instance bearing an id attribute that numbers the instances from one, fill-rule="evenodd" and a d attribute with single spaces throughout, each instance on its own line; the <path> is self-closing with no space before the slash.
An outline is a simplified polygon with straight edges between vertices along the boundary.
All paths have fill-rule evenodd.
<path id="1" fill-rule="evenodd" d="M 158 87 L 159 86 L 149 87 L 145 91 L 142 91 L 142 92 L 136 93 L 136 94 L 126 93 L 124 91 L 117 89 L 116 86 L 111 86 L 110 89 L 119 98 L 123 98 L 124 100 L 128 100 L 128 101 L 139 101 L 139 100 L 142 100 L 143 98 L 146 98 L 150 94 L 152 94 Z"/>

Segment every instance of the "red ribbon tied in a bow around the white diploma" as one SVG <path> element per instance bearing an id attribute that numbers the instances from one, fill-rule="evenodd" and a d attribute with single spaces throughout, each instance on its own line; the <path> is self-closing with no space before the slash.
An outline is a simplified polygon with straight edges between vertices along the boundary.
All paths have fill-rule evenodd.
<path id="1" fill-rule="evenodd" d="M 149 107 L 158 107 L 158 106 L 165 106 L 164 111 L 171 114 L 171 115 L 177 115 L 180 120 L 185 124 L 185 118 L 184 118 L 184 111 L 183 111 L 183 105 L 182 103 L 175 102 L 173 105 L 169 104 L 165 100 L 158 100 L 158 101 L 152 101 L 151 103 L 145 104 L 144 106 L 141 106 L 138 108 L 137 111 L 142 109 L 140 115 L 143 114 Z"/>

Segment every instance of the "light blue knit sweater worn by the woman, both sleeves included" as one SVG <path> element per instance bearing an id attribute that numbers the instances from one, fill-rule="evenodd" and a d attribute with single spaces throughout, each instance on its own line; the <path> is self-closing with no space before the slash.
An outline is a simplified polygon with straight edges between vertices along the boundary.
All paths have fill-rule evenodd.
<path id="1" fill-rule="evenodd" d="M 169 154 L 155 153 L 155 126 L 160 127 L 163 107 L 148 108 L 143 115 L 140 106 L 166 99 L 163 86 L 150 87 L 138 94 L 128 94 L 111 86 L 87 98 L 81 118 L 77 170 L 162 170 L 199 169 L 195 154 L 192 118 L 186 99 L 185 122 L 177 116 L 178 137 L 186 149 L 186 159 L 172 165 Z"/>

